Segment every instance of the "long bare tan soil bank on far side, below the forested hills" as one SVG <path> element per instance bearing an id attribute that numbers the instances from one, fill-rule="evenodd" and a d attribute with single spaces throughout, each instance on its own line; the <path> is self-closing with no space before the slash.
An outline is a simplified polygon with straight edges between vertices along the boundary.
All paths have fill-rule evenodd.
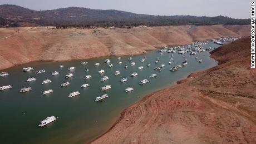
<path id="1" fill-rule="evenodd" d="M 243 26 L 166 26 L 48 29 L 0 28 L 0 69 L 32 61 L 65 61 L 141 54 L 162 46 L 189 44 L 219 37 L 249 36 Z M 16 32 L 19 29 L 19 32 Z"/>

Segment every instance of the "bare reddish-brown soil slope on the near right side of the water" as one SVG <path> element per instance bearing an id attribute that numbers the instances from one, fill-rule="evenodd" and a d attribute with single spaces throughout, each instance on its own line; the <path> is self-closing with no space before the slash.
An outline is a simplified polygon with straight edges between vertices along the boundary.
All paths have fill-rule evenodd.
<path id="1" fill-rule="evenodd" d="M 92 143 L 256 143 L 250 38 L 225 44 L 211 57 L 218 66 L 146 96 Z"/>

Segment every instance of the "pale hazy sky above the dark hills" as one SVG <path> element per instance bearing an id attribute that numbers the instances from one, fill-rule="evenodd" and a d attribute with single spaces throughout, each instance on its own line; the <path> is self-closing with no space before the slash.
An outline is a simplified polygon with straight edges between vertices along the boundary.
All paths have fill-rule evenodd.
<path id="1" fill-rule="evenodd" d="M 35 10 L 63 7 L 117 9 L 153 15 L 250 17 L 250 0 L 0 0 Z"/>

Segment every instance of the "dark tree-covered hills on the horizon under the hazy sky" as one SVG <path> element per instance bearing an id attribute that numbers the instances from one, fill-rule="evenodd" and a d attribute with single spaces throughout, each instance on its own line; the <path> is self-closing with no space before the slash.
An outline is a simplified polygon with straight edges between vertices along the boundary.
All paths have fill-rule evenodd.
<path id="1" fill-rule="evenodd" d="M 0 5 L 0 26 L 58 26 L 58 27 L 111 27 L 111 26 L 170 26 L 183 24 L 249 24 L 249 19 L 224 16 L 152 16 L 116 10 L 68 7 L 34 11 L 20 6 Z M 26 25 L 27 24 L 27 25 Z"/>

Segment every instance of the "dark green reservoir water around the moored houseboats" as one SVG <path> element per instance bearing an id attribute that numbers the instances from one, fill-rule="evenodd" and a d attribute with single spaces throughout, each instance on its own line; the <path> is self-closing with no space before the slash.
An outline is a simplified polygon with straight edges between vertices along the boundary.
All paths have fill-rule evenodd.
<path id="1" fill-rule="evenodd" d="M 213 42 L 204 46 L 218 47 Z M 81 61 L 67 62 L 33 62 L 7 69 L 10 73 L 7 77 L 0 77 L 0 86 L 12 85 L 13 88 L 0 92 L 0 130 L 1 143 L 84 143 L 106 132 L 119 118 L 124 108 L 141 100 L 145 95 L 163 89 L 174 84 L 177 80 L 185 78 L 191 72 L 201 71 L 216 65 L 214 59 L 209 58 L 210 54 L 205 51 L 198 53 L 202 63 L 196 61 L 195 56 L 185 53 L 185 58 L 181 54 L 173 53 L 173 63 L 169 65 L 171 53 L 160 55 L 157 51 L 151 51 L 140 56 L 132 57 L 132 62 L 136 62 L 134 67 L 130 66 L 127 58 L 122 57 L 122 64 L 117 64 L 117 57 L 102 57 L 87 59 L 87 65 L 82 65 Z M 143 57 L 147 57 L 144 63 Z M 159 63 L 155 64 L 155 59 L 159 57 Z M 113 67 L 107 67 L 104 63 L 109 58 Z M 176 72 L 171 72 L 170 68 L 181 64 L 184 59 L 188 59 L 188 64 Z M 100 62 L 100 66 L 93 66 Z M 151 63 L 147 67 L 147 63 Z M 58 65 L 63 64 L 63 68 Z M 125 69 L 125 64 L 128 68 Z M 163 71 L 154 71 L 155 66 L 165 64 Z M 76 67 L 74 77 L 66 79 L 69 73 L 68 67 Z M 137 69 L 144 66 L 143 69 Z M 32 72 L 22 72 L 24 67 L 33 67 L 35 71 L 45 69 L 45 73 L 39 75 Z M 90 71 L 85 72 L 85 68 Z M 100 69 L 105 69 L 102 75 L 97 74 Z M 121 71 L 121 75 L 115 76 L 115 71 Z M 53 71 L 60 72 L 60 75 L 52 76 Z M 138 72 L 137 77 L 130 77 L 131 73 Z M 152 73 L 157 73 L 157 77 L 150 78 Z M 83 80 L 86 75 L 92 75 L 90 80 Z M 28 77 L 35 76 L 34 82 L 26 82 Z M 100 82 L 100 78 L 109 76 L 109 80 Z M 120 83 L 122 77 L 128 78 L 127 82 Z M 49 78 L 52 82 L 41 85 L 41 82 Z M 149 83 L 139 85 L 139 81 L 147 78 Z M 70 85 L 61 87 L 61 83 L 68 81 Z M 89 83 L 90 87 L 80 88 L 82 84 Z M 112 88 L 106 91 L 108 98 L 95 102 L 95 98 L 102 95 L 100 88 L 111 85 Z M 19 93 L 22 87 L 32 87 L 32 91 Z M 125 93 L 127 87 L 134 87 L 134 91 Z M 48 96 L 42 96 L 42 91 L 52 89 L 54 92 Z M 77 97 L 68 97 L 69 93 L 80 91 Z M 58 120 L 47 125 L 38 127 L 41 120 L 47 116 L 56 116 Z"/>

